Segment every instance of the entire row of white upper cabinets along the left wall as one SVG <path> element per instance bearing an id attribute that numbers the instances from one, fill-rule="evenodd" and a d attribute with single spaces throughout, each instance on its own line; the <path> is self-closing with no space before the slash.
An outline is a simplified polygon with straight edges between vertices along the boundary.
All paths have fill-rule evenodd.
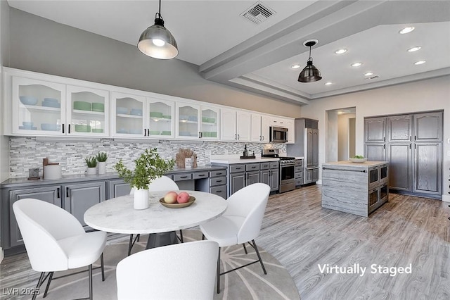
<path id="1" fill-rule="evenodd" d="M 6 67 L 4 99 L 4 135 L 268 143 L 270 126 L 293 126 L 276 115 Z"/>

